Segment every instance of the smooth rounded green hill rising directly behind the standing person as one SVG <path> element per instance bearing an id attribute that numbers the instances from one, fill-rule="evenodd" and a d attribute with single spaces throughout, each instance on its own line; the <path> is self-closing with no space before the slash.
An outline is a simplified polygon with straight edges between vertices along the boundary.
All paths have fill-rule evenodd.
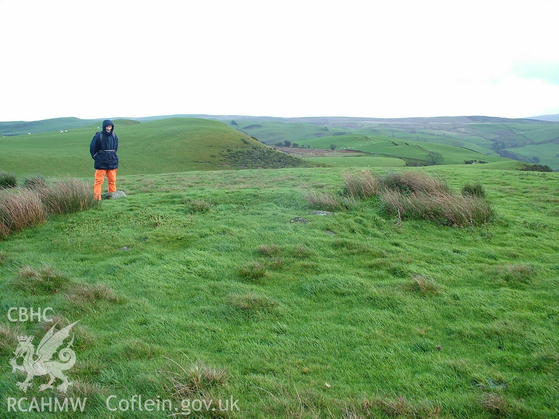
<path id="1" fill-rule="evenodd" d="M 37 172 L 91 175 L 89 143 L 96 131 L 93 124 L 63 133 L 3 137 L 0 167 L 18 176 Z M 119 136 L 120 175 L 312 164 L 211 120 L 171 118 L 122 125 L 115 121 L 115 132 Z"/>

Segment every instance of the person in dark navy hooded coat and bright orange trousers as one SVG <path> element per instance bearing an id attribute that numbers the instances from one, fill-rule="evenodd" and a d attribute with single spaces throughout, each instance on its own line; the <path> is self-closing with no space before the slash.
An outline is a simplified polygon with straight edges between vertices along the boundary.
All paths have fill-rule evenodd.
<path id="1" fill-rule="evenodd" d="M 103 121 L 103 129 L 93 136 L 89 145 L 89 153 L 95 160 L 95 182 L 93 183 L 93 194 L 95 199 L 101 200 L 101 188 L 108 179 L 108 192 L 116 191 L 116 169 L 119 168 L 119 137 L 116 136 L 115 126 L 111 120 Z"/>

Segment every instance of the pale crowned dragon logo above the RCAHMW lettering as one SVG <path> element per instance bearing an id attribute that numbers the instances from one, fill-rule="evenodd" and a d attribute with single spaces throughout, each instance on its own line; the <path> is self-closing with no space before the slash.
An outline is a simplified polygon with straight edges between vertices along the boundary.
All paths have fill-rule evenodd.
<path id="1" fill-rule="evenodd" d="M 79 321 L 79 320 L 78 320 Z M 74 322 L 71 325 L 64 327 L 63 329 L 55 332 L 53 327 L 46 332 L 45 336 L 39 342 L 37 350 L 35 351 L 35 345 L 32 344 L 33 338 L 35 336 L 19 336 L 20 343 L 17 345 L 14 358 L 10 359 L 10 365 L 12 366 L 12 372 L 20 370 L 27 373 L 27 378 L 24 382 L 18 382 L 17 385 L 24 393 L 27 392 L 27 388 L 32 387 L 33 383 L 31 380 L 37 375 L 49 374 L 50 381 L 48 384 L 41 384 L 39 388 L 44 391 L 48 388 L 54 388 L 53 382 L 56 378 L 62 380 L 62 383 L 56 387 L 60 391 L 67 391 L 68 387 L 72 385 L 72 382 L 68 382 L 68 377 L 63 374 L 63 371 L 72 368 L 75 364 L 75 352 L 70 349 L 74 342 L 74 335 L 72 334 L 72 340 L 68 342 L 68 345 L 58 351 L 58 358 L 62 362 L 51 361 L 53 355 L 56 353 L 58 348 L 63 345 L 64 339 L 70 335 L 70 329 L 75 325 Z M 23 358 L 23 365 L 17 364 L 17 358 Z"/>

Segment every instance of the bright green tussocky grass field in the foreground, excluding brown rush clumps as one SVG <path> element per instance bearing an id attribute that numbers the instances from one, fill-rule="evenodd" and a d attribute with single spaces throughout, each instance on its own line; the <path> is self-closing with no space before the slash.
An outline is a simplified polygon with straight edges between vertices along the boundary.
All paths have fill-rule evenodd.
<path id="1" fill-rule="evenodd" d="M 492 225 L 398 227 L 375 199 L 309 215 L 302 192 L 338 191 L 335 168 L 123 176 L 128 198 L 0 241 L 0 305 L 82 319 L 68 375 L 86 410 L 56 417 L 140 417 L 107 397 L 180 406 L 173 385 L 239 399 L 218 417 L 556 417 L 559 174 L 459 167 L 410 170 L 481 179 Z M 55 293 L 33 280 L 47 274 Z M 15 327 L 4 317 L 2 365 Z M 19 327 L 35 344 L 48 329 Z M 22 378 L 5 368 L 3 396 L 54 396 Z"/>

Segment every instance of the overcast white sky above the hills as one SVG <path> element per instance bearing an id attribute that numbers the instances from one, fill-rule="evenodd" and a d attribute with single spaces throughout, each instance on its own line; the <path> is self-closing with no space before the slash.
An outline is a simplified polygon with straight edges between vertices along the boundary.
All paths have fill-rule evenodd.
<path id="1" fill-rule="evenodd" d="M 0 121 L 559 113 L 558 1 L 0 0 Z"/>

